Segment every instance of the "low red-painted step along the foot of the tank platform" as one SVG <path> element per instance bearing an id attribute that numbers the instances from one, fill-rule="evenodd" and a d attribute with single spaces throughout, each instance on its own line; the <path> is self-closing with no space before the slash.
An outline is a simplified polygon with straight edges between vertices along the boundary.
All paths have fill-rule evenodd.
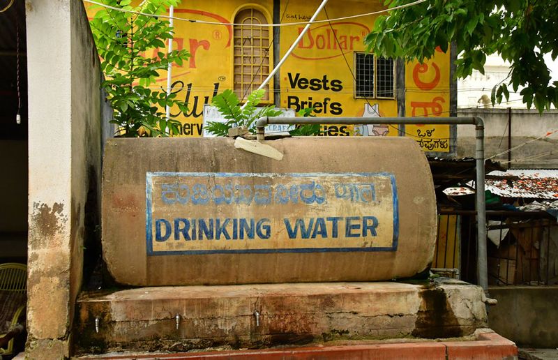
<path id="1" fill-rule="evenodd" d="M 518 359 L 510 340 L 490 329 L 478 329 L 462 341 L 427 340 L 398 343 L 389 340 L 324 344 L 312 347 L 284 347 L 265 350 L 222 350 L 189 353 L 112 353 L 80 359 Z M 536 358 L 538 359 L 538 358 Z M 550 359 L 550 358 L 549 358 Z"/>

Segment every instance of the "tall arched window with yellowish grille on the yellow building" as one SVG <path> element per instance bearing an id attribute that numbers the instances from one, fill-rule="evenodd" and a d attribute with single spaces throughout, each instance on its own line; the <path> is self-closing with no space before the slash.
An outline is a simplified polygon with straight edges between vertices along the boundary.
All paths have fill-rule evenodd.
<path id="1" fill-rule="evenodd" d="M 241 100 L 256 90 L 269 75 L 269 24 L 263 13 L 253 8 L 239 11 L 234 17 L 234 92 Z M 264 88 L 269 101 L 269 84 Z"/>

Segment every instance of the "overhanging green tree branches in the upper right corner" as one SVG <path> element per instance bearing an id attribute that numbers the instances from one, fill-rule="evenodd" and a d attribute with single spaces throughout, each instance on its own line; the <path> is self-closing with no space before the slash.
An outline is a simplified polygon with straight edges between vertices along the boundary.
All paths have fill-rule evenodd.
<path id="1" fill-rule="evenodd" d="M 385 0 L 390 8 L 413 0 Z M 558 56 L 558 0 L 429 0 L 378 17 L 365 38 L 368 50 L 384 57 L 429 59 L 436 47 L 457 46 L 457 77 L 484 74 L 486 56 L 511 63 L 506 82 L 492 89 L 492 103 L 518 91 L 539 112 L 558 107 L 558 82 L 550 83 L 544 54 Z"/>

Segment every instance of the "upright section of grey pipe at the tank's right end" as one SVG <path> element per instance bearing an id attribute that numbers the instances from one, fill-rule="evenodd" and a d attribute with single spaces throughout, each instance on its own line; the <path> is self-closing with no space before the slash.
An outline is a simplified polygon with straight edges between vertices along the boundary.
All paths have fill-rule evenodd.
<path id="1" fill-rule="evenodd" d="M 476 220 L 477 220 L 477 267 L 478 285 L 488 290 L 488 257 L 486 255 L 486 203 L 484 195 L 484 123 L 475 118 L 476 135 Z"/>

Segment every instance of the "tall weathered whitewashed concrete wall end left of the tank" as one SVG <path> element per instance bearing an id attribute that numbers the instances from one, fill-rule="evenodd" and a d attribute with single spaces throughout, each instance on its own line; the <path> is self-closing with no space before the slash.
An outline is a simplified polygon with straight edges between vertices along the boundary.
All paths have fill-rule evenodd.
<path id="1" fill-rule="evenodd" d="M 90 190 L 99 193 L 106 112 L 98 55 L 82 2 L 28 0 L 26 10 L 27 356 L 60 359 L 70 355 L 70 327 L 82 283 L 86 199 Z M 96 185 L 91 188 L 91 183 Z"/>

